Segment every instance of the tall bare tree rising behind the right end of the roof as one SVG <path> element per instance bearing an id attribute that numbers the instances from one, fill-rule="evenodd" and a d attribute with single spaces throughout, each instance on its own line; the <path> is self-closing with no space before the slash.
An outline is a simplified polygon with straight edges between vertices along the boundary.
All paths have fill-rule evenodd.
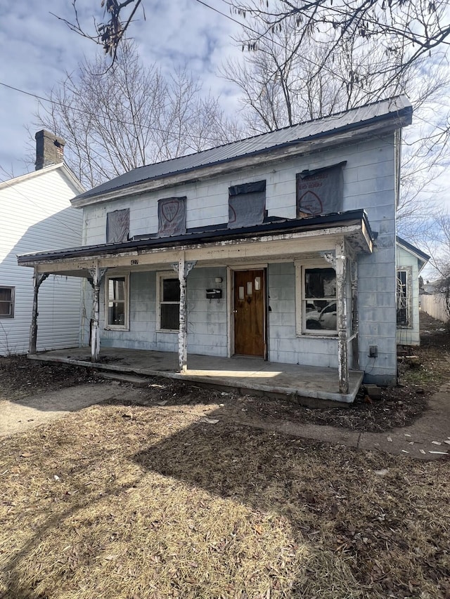
<path id="1" fill-rule="evenodd" d="M 280 15 L 285 4 L 276 4 Z M 449 141 L 450 112 L 444 100 L 449 67 L 444 53 L 406 65 L 405 49 L 398 51 L 395 59 L 403 67 L 392 79 L 386 66 L 392 55 L 375 39 L 342 37 L 338 51 L 333 37 L 305 38 L 293 15 L 271 29 L 265 18 L 252 13 L 246 22 L 235 41 L 245 47 L 250 29 L 258 40 L 257 51 L 226 61 L 222 75 L 240 89 L 243 118 L 256 133 L 325 117 L 380 96 L 410 97 L 414 125 L 404 132 L 398 216 L 401 233 L 416 237 L 434 209 L 430 197 L 437 192 L 435 181 Z"/>

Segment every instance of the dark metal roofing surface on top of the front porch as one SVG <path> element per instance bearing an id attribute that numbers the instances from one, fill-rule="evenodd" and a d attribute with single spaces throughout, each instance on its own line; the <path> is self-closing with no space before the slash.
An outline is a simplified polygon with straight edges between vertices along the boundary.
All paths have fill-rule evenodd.
<path id="1" fill-rule="evenodd" d="M 364 210 L 349 210 L 325 216 L 313 216 L 312 218 L 285 218 L 270 220 L 262 225 L 243 227 L 240 229 L 229 229 L 226 223 L 220 223 L 215 228 L 205 230 L 188 230 L 185 235 L 173 237 L 147 237 L 146 239 L 132 239 L 128 242 L 114 244 L 99 244 L 90 246 L 79 246 L 67 249 L 56 249 L 39 251 L 33 254 L 22 254 L 18 256 L 18 264 L 39 263 L 65 258 L 84 258 L 86 256 L 102 256 L 105 254 L 120 254 L 127 251 L 139 251 L 143 249 L 158 249 L 169 247 L 186 246 L 190 244 L 206 244 L 219 242 L 225 239 L 246 239 L 262 237 L 264 235 L 283 234 L 283 232 L 299 232 L 302 230 L 321 230 L 325 227 L 333 228 L 342 225 L 362 224 L 373 240 L 374 235 L 368 223 L 367 214 Z"/>

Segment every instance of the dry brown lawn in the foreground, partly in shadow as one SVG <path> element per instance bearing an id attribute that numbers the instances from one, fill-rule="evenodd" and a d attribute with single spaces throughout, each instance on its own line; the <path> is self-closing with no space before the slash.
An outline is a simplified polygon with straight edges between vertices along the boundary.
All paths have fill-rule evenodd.
<path id="1" fill-rule="evenodd" d="M 448 461 L 210 410 L 98 405 L 4 440 L 0 597 L 450 596 Z"/>

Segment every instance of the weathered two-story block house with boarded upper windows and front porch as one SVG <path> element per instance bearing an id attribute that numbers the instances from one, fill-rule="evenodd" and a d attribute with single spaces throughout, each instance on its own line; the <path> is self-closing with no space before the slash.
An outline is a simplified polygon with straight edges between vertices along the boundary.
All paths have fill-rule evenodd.
<path id="1" fill-rule="evenodd" d="M 86 277 L 100 347 L 252 356 L 397 380 L 400 96 L 189 156 L 84 192 L 84 245 L 19 263 Z M 232 368 L 232 367 L 231 367 Z M 361 374 L 361 378 L 362 378 Z"/>

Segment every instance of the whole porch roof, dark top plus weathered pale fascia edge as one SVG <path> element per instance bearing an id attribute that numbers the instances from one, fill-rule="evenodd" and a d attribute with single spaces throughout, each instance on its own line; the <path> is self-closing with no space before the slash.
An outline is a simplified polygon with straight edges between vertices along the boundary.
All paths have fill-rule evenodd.
<path id="1" fill-rule="evenodd" d="M 110 256 L 140 255 L 149 251 L 174 249 L 182 251 L 226 242 L 255 242 L 266 239 L 284 239 L 286 235 L 340 234 L 347 237 L 356 251 L 371 252 L 374 235 L 368 222 L 366 211 L 352 210 L 342 213 L 314 216 L 312 218 L 272 218 L 262 225 L 229 229 L 226 223 L 212 228 L 193 228 L 185 235 L 155 237 L 148 235 L 128 242 L 86 245 L 67 249 L 35 252 L 18 256 L 18 264 L 23 266 L 50 265 L 61 261 L 76 261 Z M 323 247 L 323 249 L 326 249 Z M 51 272 L 50 270 L 42 272 Z M 81 273 L 79 273 L 81 274 Z"/>

